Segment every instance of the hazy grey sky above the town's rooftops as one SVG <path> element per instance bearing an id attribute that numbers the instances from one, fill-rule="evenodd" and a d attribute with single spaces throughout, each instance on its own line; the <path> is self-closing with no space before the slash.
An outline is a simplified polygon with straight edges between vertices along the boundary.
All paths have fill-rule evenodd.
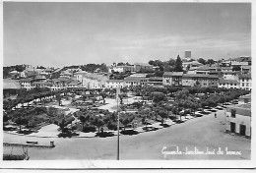
<path id="1" fill-rule="evenodd" d="M 4 2 L 4 66 L 251 56 L 250 3 Z"/>

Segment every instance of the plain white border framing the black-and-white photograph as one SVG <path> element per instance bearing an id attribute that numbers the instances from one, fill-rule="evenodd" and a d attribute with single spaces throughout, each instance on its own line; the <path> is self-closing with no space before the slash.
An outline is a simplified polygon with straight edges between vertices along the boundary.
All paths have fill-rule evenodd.
<path id="1" fill-rule="evenodd" d="M 16 0 L 16 2 L 71 2 L 67 0 L 55 0 L 55 1 L 21 1 Z M 92 2 L 92 1 L 76 1 L 76 2 Z M 117 1 L 94 1 L 94 2 L 117 2 Z M 145 1 L 119 1 L 119 2 L 156 2 L 153 0 L 145 0 Z M 251 3 L 252 5 L 252 57 L 255 55 L 255 19 L 256 19 L 256 13 L 255 13 L 255 4 L 253 1 L 249 0 L 224 0 L 224 1 L 210 1 L 210 0 L 204 0 L 204 1 L 191 1 L 191 0 L 185 0 L 185 1 L 158 1 L 158 2 L 204 2 L 204 3 Z M 0 4 L 0 29 L 2 30 L 0 33 L 0 37 L 3 38 L 3 0 L 1 0 Z M 2 61 L 3 61 L 3 39 L 0 39 L 0 52 L 2 53 Z M 3 63 L 3 62 L 1 62 Z M 253 66 L 254 66 L 254 60 L 253 60 Z M 2 64 L 1 64 L 2 65 Z M 2 65 L 3 66 L 3 65 Z M 1 70 L 1 79 L 2 78 L 2 70 Z M 254 68 L 252 68 L 252 78 L 254 79 L 254 75 L 256 74 Z M 2 83 L 0 83 L 0 86 L 2 87 Z M 255 96 L 255 90 L 254 90 L 254 83 L 252 83 L 252 105 L 254 104 L 254 96 Z M 1 107 L 2 107 L 2 89 L 1 89 Z M 2 114 L 2 111 L 1 111 Z M 255 160 L 255 135 L 254 135 L 254 128 L 256 128 L 256 123 L 253 118 L 253 115 L 255 115 L 255 108 L 252 106 L 252 139 L 251 139 L 251 160 L 120 160 L 120 161 L 107 161 L 107 160 L 40 160 L 40 161 L 0 161 L 0 168 L 42 168 L 42 169 L 98 169 L 98 168 L 255 168 L 256 167 L 256 160 Z M 2 116 L 1 116 L 2 117 Z M 0 134 L 3 135 L 2 132 L 2 122 L 0 123 Z M 0 138 L 0 143 L 3 143 L 3 139 Z M 2 146 L 0 147 L 0 154 L 3 153 Z"/>

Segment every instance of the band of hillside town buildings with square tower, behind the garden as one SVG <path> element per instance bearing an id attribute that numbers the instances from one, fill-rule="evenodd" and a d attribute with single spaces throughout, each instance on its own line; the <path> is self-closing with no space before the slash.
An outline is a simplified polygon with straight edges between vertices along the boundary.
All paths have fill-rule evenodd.
<path id="1" fill-rule="evenodd" d="M 188 52 L 190 54 L 188 54 Z M 103 89 L 136 87 L 144 85 L 175 87 L 222 87 L 251 90 L 251 57 L 238 57 L 215 61 L 191 58 L 186 51 L 181 60 L 170 59 L 149 63 L 88 64 L 81 66 L 32 67 L 16 65 L 4 67 L 4 83 L 18 83 L 28 90 L 47 87 L 51 90 L 65 88 Z M 179 62 L 178 62 L 179 61 Z M 4 86 L 8 89 L 8 86 Z M 6 96 L 6 95 L 5 95 Z"/>

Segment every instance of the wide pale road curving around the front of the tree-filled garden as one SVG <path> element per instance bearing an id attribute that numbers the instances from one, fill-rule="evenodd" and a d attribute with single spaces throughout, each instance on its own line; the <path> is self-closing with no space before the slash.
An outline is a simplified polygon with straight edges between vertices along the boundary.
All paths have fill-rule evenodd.
<path id="1" fill-rule="evenodd" d="M 120 137 L 120 159 L 250 159 L 251 141 L 243 137 L 231 136 L 225 133 L 224 111 L 176 124 L 156 132 L 147 132 L 136 136 Z M 117 137 L 101 138 L 35 138 L 4 134 L 4 142 L 26 143 L 36 140 L 40 144 L 54 141 L 56 146 L 51 149 L 29 148 L 32 160 L 49 159 L 116 159 Z M 218 149 L 227 146 L 228 150 L 239 151 L 241 155 L 233 154 L 171 154 L 161 152 L 162 147 L 178 146 L 185 151 L 186 147 L 193 150 Z M 4 147 L 4 153 L 10 153 L 11 147 Z M 14 147 L 13 153 L 22 151 Z"/>

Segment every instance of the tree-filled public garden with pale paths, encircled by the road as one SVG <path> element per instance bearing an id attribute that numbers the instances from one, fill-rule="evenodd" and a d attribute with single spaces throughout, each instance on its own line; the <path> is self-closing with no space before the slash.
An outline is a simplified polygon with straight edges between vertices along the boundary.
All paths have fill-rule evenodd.
<path id="1" fill-rule="evenodd" d="M 249 93 L 247 90 L 215 87 L 152 86 L 125 87 L 121 91 L 118 111 L 109 112 L 98 107 L 107 104 L 105 98 L 114 98 L 115 89 L 22 90 L 17 99 L 4 101 L 4 131 L 28 135 L 38 132 L 43 126 L 55 124 L 59 127 L 58 137 L 71 138 L 79 136 L 80 132 L 95 133 L 96 137 L 102 138 L 112 137 L 116 135 L 119 114 L 120 133 L 137 135 L 139 128 L 141 132 L 156 131 L 173 123 L 184 123 L 191 117 L 208 115 Z M 140 99 L 124 103 L 128 93 Z M 65 109 L 52 106 L 61 106 L 65 99 L 70 100 L 65 108 L 75 107 L 77 111 L 65 113 Z M 28 103 L 27 106 L 24 103 Z"/>

